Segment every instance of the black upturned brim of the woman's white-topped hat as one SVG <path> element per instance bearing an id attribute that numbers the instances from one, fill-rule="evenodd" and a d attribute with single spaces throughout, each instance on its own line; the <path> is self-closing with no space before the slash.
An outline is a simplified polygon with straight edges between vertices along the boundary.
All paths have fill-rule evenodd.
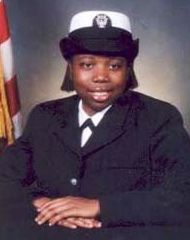
<path id="1" fill-rule="evenodd" d="M 101 54 L 124 56 L 134 60 L 139 51 L 139 40 L 133 40 L 126 31 L 86 28 L 75 31 L 60 41 L 60 49 L 65 59 L 76 54 Z"/>

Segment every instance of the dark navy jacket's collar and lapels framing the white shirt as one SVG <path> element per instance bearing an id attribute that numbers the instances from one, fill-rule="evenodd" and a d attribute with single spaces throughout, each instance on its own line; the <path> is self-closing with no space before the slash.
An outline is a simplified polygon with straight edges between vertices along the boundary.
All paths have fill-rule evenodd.
<path id="1" fill-rule="evenodd" d="M 72 152 L 81 155 L 80 129 L 78 124 L 79 98 L 74 96 L 59 112 L 54 133 Z M 83 156 L 112 142 L 129 129 L 132 118 L 129 116 L 130 92 L 120 97 L 104 115 L 96 131 L 83 147 Z"/>

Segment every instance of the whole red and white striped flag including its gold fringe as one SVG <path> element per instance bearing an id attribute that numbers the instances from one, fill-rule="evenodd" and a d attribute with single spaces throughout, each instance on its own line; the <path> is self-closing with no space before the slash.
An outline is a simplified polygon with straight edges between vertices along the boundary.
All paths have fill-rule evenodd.
<path id="1" fill-rule="evenodd" d="M 0 0 L 0 149 L 5 142 L 11 144 L 21 132 L 20 100 L 11 34 L 5 2 Z"/>

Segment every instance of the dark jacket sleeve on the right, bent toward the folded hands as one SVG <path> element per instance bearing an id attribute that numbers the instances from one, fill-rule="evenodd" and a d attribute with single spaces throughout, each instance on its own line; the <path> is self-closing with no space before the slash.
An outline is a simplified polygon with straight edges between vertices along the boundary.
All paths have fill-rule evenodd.
<path id="1" fill-rule="evenodd" d="M 104 226 L 190 225 L 190 140 L 178 111 L 168 110 L 150 136 L 150 188 L 100 197 Z"/>

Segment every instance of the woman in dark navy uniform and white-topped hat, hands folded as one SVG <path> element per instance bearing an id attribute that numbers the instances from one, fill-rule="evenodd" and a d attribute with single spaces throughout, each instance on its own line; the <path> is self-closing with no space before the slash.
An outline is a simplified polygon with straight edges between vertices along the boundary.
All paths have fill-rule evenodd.
<path id="1" fill-rule="evenodd" d="M 128 17 L 78 13 L 60 47 L 77 94 L 37 106 L 4 152 L 1 239 L 164 239 L 188 226 L 189 137 L 175 107 L 131 91 Z"/>

